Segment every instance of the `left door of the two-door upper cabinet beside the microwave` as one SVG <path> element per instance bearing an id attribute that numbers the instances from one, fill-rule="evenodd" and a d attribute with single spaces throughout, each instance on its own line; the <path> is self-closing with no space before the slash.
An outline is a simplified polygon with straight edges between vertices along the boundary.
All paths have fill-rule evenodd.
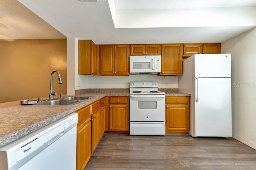
<path id="1" fill-rule="evenodd" d="M 100 45 L 100 74 L 114 74 L 114 45 Z"/>

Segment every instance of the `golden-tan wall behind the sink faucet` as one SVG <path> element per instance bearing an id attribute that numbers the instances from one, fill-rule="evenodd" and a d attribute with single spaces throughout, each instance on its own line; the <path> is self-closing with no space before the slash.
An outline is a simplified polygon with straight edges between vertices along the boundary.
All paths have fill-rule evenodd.
<path id="1" fill-rule="evenodd" d="M 0 103 L 48 96 L 50 74 L 53 88 L 67 93 L 66 39 L 0 41 Z"/>

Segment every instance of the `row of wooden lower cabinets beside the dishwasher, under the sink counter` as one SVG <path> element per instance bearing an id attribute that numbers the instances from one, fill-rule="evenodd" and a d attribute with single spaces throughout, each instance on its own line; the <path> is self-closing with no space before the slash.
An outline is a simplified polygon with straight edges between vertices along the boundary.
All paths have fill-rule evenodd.
<path id="1" fill-rule="evenodd" d="M 77 139 L 76 139 L 76 170 L 84 170 L 92 153 L 96 149 L 105 128 L 104 100 L 78 109 Z M 101 107 L 102 106 L 102 107 Z"/>

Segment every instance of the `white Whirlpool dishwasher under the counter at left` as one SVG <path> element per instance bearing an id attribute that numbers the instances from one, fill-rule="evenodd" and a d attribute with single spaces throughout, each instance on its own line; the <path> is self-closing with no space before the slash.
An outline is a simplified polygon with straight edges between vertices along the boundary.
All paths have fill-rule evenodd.
<path id="1" fill-rule="evenodd" d="M 0 147 L 1 170 L 76 170 L 77 113 Z"/>

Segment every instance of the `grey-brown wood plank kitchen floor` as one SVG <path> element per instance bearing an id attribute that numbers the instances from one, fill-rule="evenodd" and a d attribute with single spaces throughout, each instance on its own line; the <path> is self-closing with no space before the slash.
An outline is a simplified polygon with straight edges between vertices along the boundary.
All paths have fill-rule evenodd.
<path id="1" fill-rule="evenodd" d="M 256 150 L 233 138 L 105 134 L 85 170 L 256 169 Z"/>

